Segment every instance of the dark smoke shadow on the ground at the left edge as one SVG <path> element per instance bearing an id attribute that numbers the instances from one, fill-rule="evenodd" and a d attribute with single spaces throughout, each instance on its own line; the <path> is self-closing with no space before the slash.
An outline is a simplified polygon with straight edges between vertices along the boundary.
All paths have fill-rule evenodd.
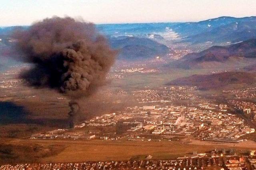
<path id="1" fill-rule="evenodd" d="M 67 127 L 68 118 L 39 118 L 30 119 L 29 112 L 23 106 L 18 106 L 13 102 L 0 102 L 0 125 L 7 124 L 37 124 L 51 127 Z"/>

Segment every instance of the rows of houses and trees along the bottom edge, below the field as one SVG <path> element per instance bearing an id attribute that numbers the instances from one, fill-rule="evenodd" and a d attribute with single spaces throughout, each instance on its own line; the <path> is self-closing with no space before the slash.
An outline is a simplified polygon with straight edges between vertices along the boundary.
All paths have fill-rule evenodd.
<path id="1" fill-rule="evenodd" d="M 151 157 L 148 155 L 145 160 L 17 164 L 15 166 L 7 164 L 0 166 L 0 170 L 255 170 L 256 156 L 254 156 L 254 152 L 250 152 L 251 155 L 248 156 L 238 156 L 232 153 L 232 150 L 227 152 L 225 150 L 212 150 L 208 154 L 197 154 L 195 152 L 194 156 L 184 156 L 170 160 L 150 160 Z"/>

